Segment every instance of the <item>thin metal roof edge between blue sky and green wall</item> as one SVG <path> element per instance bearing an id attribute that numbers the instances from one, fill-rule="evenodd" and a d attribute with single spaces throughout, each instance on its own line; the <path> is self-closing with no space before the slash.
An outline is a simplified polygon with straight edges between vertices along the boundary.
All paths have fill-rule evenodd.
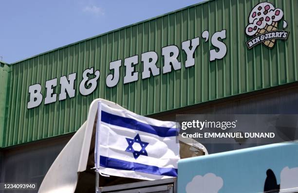
<path id="1" fill-rule="evenodd" d="M 181 8 L 181 9 L 177 9 L 175 11 L 171 11 L 171 12 L 168 12 L 166 14 L 162 14 L 162 15 L 159 15 L 159 16 L 156 16 L 156 17 L 153 17 L 153 18 L 149 18 L 149 19 L 146 19 L 146 20 L 143 20 L 143 21 L 139 21 L 139 22 L 136 22 L 136 23 L 133 23 L 133 24 L 130 24 L 130 25 L 127 25 L 127 26 L 124 26 L 124 27 L 121 27 L 121 28 L 118 28 L 118 29 L 115 29 L 115 30 L 112 30 L 112 31 L 109 31 L 109 32 L 105 32 L 105 33 L 102 33 L 102 34 L 99 34 L 99 35 L 94 35 L 92 37 L 89 37 L 89 38 L 86 38 L 86 39 L 83 39 L 83 40 L 80 40 L 80 41 L 77 41 L 77 42 L 74 42 L 74 43 L 71 43 L 71 44 L 67 44 L 65 46 L 61 46 L 61 47 L 58 47 L 58 48 L 55 48 L 55 49 L 52 49 L 50 51 L 46 51 L 46 52 L 43 52 L 43 53 L 38 53 L 36 55 L 33 55 L 33 56 L 30 56 L 30 57 L 27 57 L 27 58 L 24 58 L 22 60 L 18 60 L 16 62 L 13 62 L 11 64 L 8 64 L 8 65 L 14 65 L 14 64 L 18 64 L 22 61 L 25 61 L 25 60 L 28 60 L 28 59 L 31 59 L 31 58 L 35 58 L 39 55 L 43 55 L 43 54 L 46 54 L 46 53 L 51 53 L 51 52 L 54 52 L 56 50 L 60 50 L 60 49 L 63 49 L 63 48 L 66 48 L 66 47 L 69 47 L 69 46 L 73 46 L 75 44 L 78 44 L 78 43 L 81 43 L 81 42 L 84 42 L 84 41 L 88 41 L 88 40 L 91 40 L 93 38 L 96 38 L 96 37 L 100 37 L 100 36 L 103 36 L 103 35 L 107 35 L 107 34 L 110 34 L 110 33 L 113 33 L 113 32 L 116 32 L 116 31 L 120 31 L 120 30 L 123 30 L 125 28 L 128 28 L 128 27 L 131 27 L 131 26 L 135 26 L 135 25 L 138 25 L 138 24 L 141 24 L 141 23 L 145 23 L 145 22 L 148 22 L 150 20 L 153 20 L 153 19 L 157 19 L 157 18 L 162 18 L 164 16 L 167 16 L 167 15 L 170 15 L 170 14 L 173 14 L 173 13 L 176 13 L 176 12 L 179 12 L 179 11 L 182 11 L 182 10 L 185 10 L 185 9 L 189 9 L 191 7 L 195 7 L 195 6 L 198 6 L 200 4 L 204 4 L 204 3 L 207 3 L 207 2 L 210 2 L 210 1 L 214 1 L 214 0 L 203 0 L 202 2 L 198 2 L 196 4 L 193 4 L 193 5 L 189 5 L 189 6 L 186 6 L 184 8 Z"/>

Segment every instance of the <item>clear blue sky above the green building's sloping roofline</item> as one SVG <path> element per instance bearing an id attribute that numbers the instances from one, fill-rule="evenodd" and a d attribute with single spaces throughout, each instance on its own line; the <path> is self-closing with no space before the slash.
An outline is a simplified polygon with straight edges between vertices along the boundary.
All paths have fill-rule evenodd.
<path id="1" fill-rule="evenodd" d="M 200 1 L 1 0 L 0 56 L 13 63 Z"/>

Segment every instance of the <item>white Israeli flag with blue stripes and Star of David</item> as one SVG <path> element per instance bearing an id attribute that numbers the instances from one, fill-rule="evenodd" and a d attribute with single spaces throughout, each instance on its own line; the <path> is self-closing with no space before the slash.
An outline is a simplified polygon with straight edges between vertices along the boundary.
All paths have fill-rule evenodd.
<path id="1" fill-rule="evenodd" d="M 175 122 L 143 117 L 99 102 L 95 168 L 103 175 L 146 180 L 177 176 Z"/>

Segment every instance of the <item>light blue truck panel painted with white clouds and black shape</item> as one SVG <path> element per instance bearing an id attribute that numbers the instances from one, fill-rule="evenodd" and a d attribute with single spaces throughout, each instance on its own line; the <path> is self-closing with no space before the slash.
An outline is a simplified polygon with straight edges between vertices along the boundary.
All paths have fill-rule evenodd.
<path id="1" fill-rule="evenodd" d="M 181 159 L 178 193 L 298 192 L 298 143 Z"/>

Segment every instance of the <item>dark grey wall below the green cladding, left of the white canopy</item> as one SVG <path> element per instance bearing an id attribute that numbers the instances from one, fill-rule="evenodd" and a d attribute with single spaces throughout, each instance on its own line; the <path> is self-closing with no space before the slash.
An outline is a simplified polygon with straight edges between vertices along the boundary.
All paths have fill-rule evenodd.
<path id="1" fill-rule="evenodd" d="M 24 144 L 21 146 L 2 149 L 0 154 L 0 182 L 37 183 L 39 188 L 43 177 L 52 163 L 70 140 L 72 135 L 61 136 Z M 4 193 L 7 191 L 0 191 Z M 9 191 L 37 192 L 37 191 Z"/>

